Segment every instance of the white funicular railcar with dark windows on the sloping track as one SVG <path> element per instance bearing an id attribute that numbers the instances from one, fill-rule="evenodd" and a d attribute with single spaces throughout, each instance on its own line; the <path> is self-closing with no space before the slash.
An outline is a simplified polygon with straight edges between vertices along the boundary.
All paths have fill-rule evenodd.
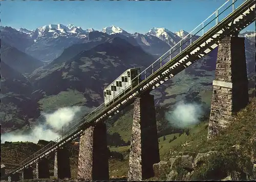
<path id="1" fill-rule="evenodd" d="M 103 91 L 105 106 L 109 106 L 138 85 L 141 82 L 141 77 L 137 77 L 139 74 L 140 68 L 138 67 L 126 70 L 114 82 L 107 86 Z M 117 97 L 118 95 L 119 97 Z"/>

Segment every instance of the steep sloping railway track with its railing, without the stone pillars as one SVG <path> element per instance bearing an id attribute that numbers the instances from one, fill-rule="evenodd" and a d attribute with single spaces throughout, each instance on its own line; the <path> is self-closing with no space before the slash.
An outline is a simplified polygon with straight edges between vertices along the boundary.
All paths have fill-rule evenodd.
<path id="1" fill-rule="evenodd" d="M 234 8 L 234 6 L 239 7 Z M 47 156 L 58 147 L 78 138 L 84 129 L 95 125 L 97 122 L 104 121 L 106 117 L 110 118 L 115 115 L 125 106 L 133 103 L 135 97 L 155 89 L 218 47 L 219 40 L 225 36 L 238 35 L 241 30 L 253 21 L 255 21 L 254 0 L 247 0 L 244 3 L 239 0 L 225 2 L 172 49 L 148 66 L 140 74 L 144 80 L 135 88 L 125 94 L 120 93 L 116 97 L 116 101 L 108 107 L 101 104 L 78 124 L 66 131 L 62 137 L 50 142 L 47 146 L 20 163 L 18 168 L 3 177 L 16 173 L 35 163 L 39 158 Z M 203 35 L 197 39 L 196 36 L 201 32 L 203 32 Z"/>

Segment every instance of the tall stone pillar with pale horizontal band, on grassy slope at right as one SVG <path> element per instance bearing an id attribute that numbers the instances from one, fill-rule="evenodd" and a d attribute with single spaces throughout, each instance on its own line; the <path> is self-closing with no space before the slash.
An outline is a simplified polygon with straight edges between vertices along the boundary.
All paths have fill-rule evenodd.
<path id="1" fill-rule="evenodd" d="M 215 137 L 249 102 L 244 37 L 225 37 L 219 42 L 208 127 Z"/>

